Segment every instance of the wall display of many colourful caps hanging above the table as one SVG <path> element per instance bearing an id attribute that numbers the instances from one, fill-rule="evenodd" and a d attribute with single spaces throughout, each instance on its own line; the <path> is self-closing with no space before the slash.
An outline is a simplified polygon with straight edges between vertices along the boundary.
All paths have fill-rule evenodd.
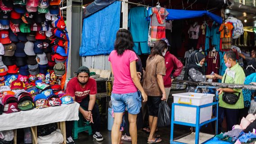
<path id="1" fill-rule="evenodd" d="M 64 75 L 69 40 L 60 2 L 0 0 L 0 76 L 46 75 L 48 68 Z"/>

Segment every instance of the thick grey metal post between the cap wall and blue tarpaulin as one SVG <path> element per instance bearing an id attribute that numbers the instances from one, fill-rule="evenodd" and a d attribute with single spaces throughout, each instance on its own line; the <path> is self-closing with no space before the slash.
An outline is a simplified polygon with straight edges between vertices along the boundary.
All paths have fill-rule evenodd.
<path id="1" fill-rule="evenodd" d="M 82 41 L 82 0 L 67 0 L 67 31 L 69 33 L 67 78 L 70 78 L 82 65 L 79 56 Z"/>

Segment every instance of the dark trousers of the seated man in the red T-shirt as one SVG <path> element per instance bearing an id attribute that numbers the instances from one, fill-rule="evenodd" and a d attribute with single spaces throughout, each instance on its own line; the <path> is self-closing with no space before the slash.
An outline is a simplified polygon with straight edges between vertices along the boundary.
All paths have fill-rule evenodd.
<path id="1" fill-rule="evenodd" d="M 81 107 L 84 108 L 84 110 L 88 111 L 89 101 L 90 101 L 90 98 L 89 98 L 89 96 L 87 96 L 87 98 L 83 99 L 82 102 L 79 104 Z M 96 131 L 99 132 L 100 127 L 101 127 L 101 116 L 100 116 L 99 106 L 96 102 L 91 111 L 91 114 L 92 114 L 92 119 L 94 122 L 94 123 L 91 123 L 92 133 L 95 133 Z M 85 121 L 84 118 L 83 118 L 83 120 Z M 66 136 L 67 136 L 67 138 L 69 136 L 72 136 L 73 123 L 74 123 L 73 121 L 66 121 Z"/>

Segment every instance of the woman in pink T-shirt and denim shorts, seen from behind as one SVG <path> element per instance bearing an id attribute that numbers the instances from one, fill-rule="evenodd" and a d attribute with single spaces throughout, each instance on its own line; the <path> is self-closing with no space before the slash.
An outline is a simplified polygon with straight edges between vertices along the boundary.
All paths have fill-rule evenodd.
<path id="1" fill-rule="evenodd" d="M 111 94 L 112 108 L 114 109 L 114 124 L 111 131 L 112 144 L 118 144 L 119 129 L 125 108 L 129 113 L 129 131 L 132 144 L 137 144 L 136 118 L 142 106 L 142 97 L 143 102 L 147 101 L 147 95 L 137 77 L 137 59 L 137 55 L 133 51 L 133 37 L 130 31 L 120 29 L 116 33 L 114 50 L 109 56 L 111 72 L 114 75 Z"/>

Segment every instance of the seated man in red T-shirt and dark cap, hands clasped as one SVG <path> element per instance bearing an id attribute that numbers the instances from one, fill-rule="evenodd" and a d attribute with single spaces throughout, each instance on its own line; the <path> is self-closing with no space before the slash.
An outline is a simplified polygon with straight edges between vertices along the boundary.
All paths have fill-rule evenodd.
<path id="1" fill-rule="evenodd" d="M 73 100 L 80 104 L 79 112 L 84 119 L 90 121 L 93 138 L 97 141 L 103 140 L 99 130 L 101 127 L 101 117 L 99 106 L 96 103 L 97 85 L 96 81 L 90 77 L 88 67 L 78 68 L 77 77 L 73 77 L 66 89 L 66 93 L 71 95 Z M 73 121 L 66 121 L 67 144 L 74 144 L 72 139 Z"/>

